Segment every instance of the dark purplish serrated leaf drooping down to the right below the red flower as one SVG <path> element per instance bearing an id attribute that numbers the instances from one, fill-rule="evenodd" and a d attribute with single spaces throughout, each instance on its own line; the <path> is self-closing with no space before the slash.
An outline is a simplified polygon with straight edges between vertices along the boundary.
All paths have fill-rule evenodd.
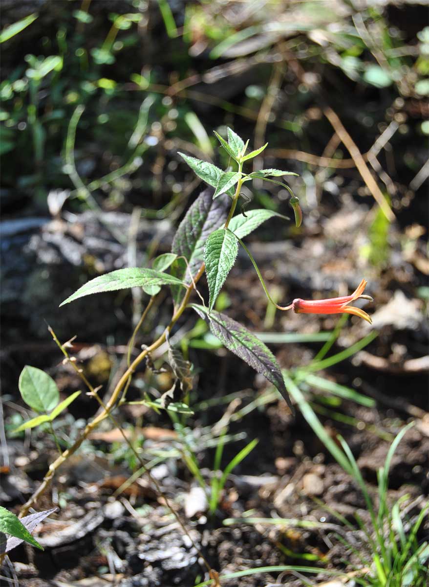
<path id="1" fill-rule="evenodd" d="M 250 330 L 247 330 L 247 328 L 244 328 L 243 325 L 229 318 L 229 316 L 216 311 L 209 314 L 204 306 L 195 303 L 190 305 L 201 318 L 205 318 L 209 322 L 210 330 L 227 349 L 240 357 L 240 359 L 243 359 L 247 365 L 250 365 L 257 373 L 261 373 L 277 387 L 292 413 L 294 413 L 280 367 L 271 350 L 253 332 L 250 332 Z"/>

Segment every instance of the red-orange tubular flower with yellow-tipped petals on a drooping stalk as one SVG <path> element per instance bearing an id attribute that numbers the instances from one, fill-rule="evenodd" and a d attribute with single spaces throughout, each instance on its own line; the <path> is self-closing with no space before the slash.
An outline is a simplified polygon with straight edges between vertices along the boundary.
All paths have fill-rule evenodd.
<path id="1" fill-rule="evenodd" d="M 365 311 L 348 305 L 350 302 L 354 302 L 355 299 L 369 299 L 369 301 L 373 301 L 369 295 L 362 295 L 366 284 L 365 279 L 362 279 L 352 295 L 342 296 L 342 298 L 316 300 L 298 298 L 294 299 L 289 307 L 299 314 L 354 314 L 372 324 L 370 316 Z"/>

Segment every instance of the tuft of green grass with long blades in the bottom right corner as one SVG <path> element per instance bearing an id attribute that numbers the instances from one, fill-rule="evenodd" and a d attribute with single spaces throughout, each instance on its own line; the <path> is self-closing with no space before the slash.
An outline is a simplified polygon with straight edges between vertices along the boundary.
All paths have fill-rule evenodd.
<path id="1" fill-rule="evenodd" d="M 341 450 L 324 429 L 297 384 L 288 375 L 285 375 L 285 384 L 312 430 L 346 473 L 353 477 L 365 499 L 371 527 L 367 528 L 359 515 L 355 515 L 358 528 L 365 537 L 365 549 L 357 550 L 356 546 L 337 536 L 358 556 L 365 569 L 358 573 L 364 576 L 356 576 L 355 581 L 364 587 L 423 587 L 426 581 L 425 563 L 429 559 L 429 542 L 419 543 L 417 533 L 429 512 L 429 506 L 424 505 L 410 524 L 406 515 L 401 514 L 401 506 L 409 496 L 405 495 L 391 505 L 387 495 L 391 460 L 400 441 L 414 423 L 404 426 L 390 444 L 384 465 L 377 474 L 378 495 L 377 500 L 374 500 L 346 441 L 341 436 L 338 437 Z M 342 516 L 336 517 L 350 529 L 356 529 Z"/>

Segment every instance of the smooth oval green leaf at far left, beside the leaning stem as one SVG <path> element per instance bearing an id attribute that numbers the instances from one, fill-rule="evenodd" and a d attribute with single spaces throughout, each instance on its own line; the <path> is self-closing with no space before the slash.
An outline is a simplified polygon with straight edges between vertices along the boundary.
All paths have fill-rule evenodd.
<path id="1" fill-rule="evenodd" d="M 19 376 L 19 392 L 33 410 L 50 411 L 59 402 L 60 394 L 55 381 L 37 367 L 26 365 Z"/>

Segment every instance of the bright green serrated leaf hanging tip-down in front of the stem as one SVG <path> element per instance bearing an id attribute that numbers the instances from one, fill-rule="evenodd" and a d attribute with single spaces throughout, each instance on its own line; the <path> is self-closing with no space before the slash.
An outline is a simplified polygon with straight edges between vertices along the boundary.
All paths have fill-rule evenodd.
<path id="1" fill-rule="evenodd" d="M 237 239 L 230 231 L 219 228 L 210 234 L 204 249 L 207 282 L 209 284 L 209 312 L 219 295 L 227 275 L 236 261 L 239 252 Z"/>

